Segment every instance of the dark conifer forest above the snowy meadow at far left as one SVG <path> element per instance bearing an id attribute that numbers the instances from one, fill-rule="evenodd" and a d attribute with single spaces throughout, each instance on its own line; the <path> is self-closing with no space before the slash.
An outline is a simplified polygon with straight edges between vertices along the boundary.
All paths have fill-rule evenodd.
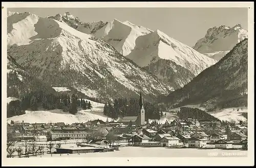
<path id="1" fill-rule="evenodd" d="M 11 101 L 7 105 L 7 117 L 25 114 L 25 110 L 33 111 L 38 109 L 62 109 L 69 111 L 71 114 L 76 114 L 81 109 L 91 109 L 90 101 L 78 99 L 75 94 L 55 95 L 53 93 L 45 93 L 42 90 L 32 91 L 22 97 L 21 100 Z"/>

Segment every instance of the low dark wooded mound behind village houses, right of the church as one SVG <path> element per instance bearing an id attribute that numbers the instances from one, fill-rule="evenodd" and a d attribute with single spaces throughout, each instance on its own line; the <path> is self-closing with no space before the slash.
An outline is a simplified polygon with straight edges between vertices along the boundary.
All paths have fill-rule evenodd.
<path id="1" fill-rule="evenodd" d="M 177 113 L 180 119 L 198 119 L 198 120 L 214 120 L 220 121 L 218 118 L 206 113 L 198 108 L 180 107 L 180 111 Z"/>

